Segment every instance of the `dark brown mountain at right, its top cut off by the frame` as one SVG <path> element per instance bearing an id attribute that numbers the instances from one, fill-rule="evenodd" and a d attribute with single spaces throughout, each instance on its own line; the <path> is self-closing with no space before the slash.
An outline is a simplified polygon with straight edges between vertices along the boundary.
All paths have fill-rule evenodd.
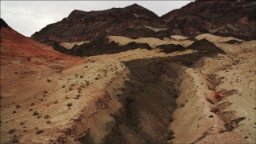
<path id="1" fill-rule="evenodd" d="M 203 33 L 254 39 L 256 30 L 255 1 L 190 2 L 181 9 L 162 16 L 174 34 L 194 36 Z"/>

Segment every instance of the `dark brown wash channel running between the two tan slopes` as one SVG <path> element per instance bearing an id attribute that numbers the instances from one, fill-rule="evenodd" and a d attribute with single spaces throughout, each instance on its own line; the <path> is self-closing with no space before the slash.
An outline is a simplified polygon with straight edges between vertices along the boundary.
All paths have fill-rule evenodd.
<path id="1" fill-rule="evenodd" d="M 209 50 L 202 49 L 208 44 Z M 175 131 L 170 129 L 177 107 L 176 98 L 181 94 L 180 84 L 190 67 L 203 66 L 202 58 L 218 58 L 224 53 L 214 44 L 203 40 L 195 42 L 193 53 L 176 56 L 140 58 L 124 62 L 126 73 L 107 88 L 110 98 L 122 104 L 110 115 L 114 122 L 106 124 L 108 133 L 102 139 L 91 131 L 80 142 L 106 143 L 164 143 L 173 142 Z M 192 85 L 192 83 L 191 83 Z M 180 126 L 179 123 L 177 126 Z"/>

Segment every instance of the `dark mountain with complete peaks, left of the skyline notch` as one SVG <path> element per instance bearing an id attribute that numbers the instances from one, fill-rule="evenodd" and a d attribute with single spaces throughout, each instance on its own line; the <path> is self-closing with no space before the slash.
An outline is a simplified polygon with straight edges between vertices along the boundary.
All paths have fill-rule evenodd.
<path id="1" fill-rule="evenodd" d="M 165 27 L 165 23 L 156 14 L 134 4 L 102 11 L 74 10 L 62 21 L 36 32 L 32 38 L 40 42 L 92 40 L 100 34 L 163 38 L 169 35 L 166 31 L 162 32 Z"/>

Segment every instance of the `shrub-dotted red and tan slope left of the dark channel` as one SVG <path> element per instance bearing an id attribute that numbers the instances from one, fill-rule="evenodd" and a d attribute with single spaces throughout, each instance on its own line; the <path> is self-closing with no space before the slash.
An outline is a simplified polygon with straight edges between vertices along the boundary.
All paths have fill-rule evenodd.
<path id="1" fill-rule="evenodd" d="M 74 123 L 106 106 L 105 88 L 124 66 L 60 54 L 1 26 L 1 143 L 74 141 L 86 131 Z"/>

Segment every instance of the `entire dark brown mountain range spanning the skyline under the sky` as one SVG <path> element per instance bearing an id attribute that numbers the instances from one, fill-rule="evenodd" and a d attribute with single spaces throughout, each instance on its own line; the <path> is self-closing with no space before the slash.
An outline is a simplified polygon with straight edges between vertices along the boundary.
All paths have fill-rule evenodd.
<path id="1" fill-rule="evenodd" d="M 107 38 L 102 41 L 110 35 L 163 39 L 178 34 L 193 39 L 198 34 L 210 33 L 251 40 L 256 34 L 255 6 L 254 1 L 198 0 L 161 18 L 137 4 L 102 11 L 74 10 L 62 21 L 36 32 L 32 38 L 54 46 L 54 50 L 78 56 L 114 54 L 138 48 L 138 45 L 130 44 L 119 49 Z M 62 42 L 83 43 L 66 50 Z"/>

